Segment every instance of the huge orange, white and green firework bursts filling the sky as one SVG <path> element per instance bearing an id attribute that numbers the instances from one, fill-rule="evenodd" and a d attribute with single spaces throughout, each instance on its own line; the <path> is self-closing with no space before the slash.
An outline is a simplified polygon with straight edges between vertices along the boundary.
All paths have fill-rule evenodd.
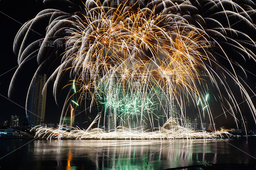
<path id="1" fill-rule="evenodd" d="M 186 107 L 198 110 L 201 123 L 206 116 L 213 122 L 207 101 L 209 94 L 204 98 L 210 85 L 217 91 L 214 98 L 220 101 L 223 111 L 231 109 L 235 117 L 236 112 L 241 112 L 235 97 L 237 94 L 231 91 L 227 78 L 239 88 L 240 97 L 246 99 L 245 103 L 255 120 L 256 110 L 248 94 L 252 90 L 246 90 L 247 85 L 236 74 L 237 69 L 232 64 L 237 62 L 230 57 L 236 54 L 244 60 L 255 62 L 255 40 L 235 27 L 230 27 L 243 24 L 249 32 L 256 33 L 251 18 L 256 15 L 255 4 L 251 1 L 239 4 L 231 0 L 203 0 L 199 4 L 193 0 L 179 3 L 174 0 L 154 0 L 144 6 L 137 5 L 140 1 L 135 4 L 118 1 L 118 5 L 114 5 L 107 0 L 88 0 L 83 8 L 65 2 L 73 5 L 72 10 L 76 12 L 70 14 L 59 10 L 44 10 L 25 23 L 18 32 L 13 48 L 20 65 L 12 78 L 10 98 L 14 93 L 15 78 L 24 67 L 23 61 L 38 52 L 39 67 L 36 74 L 61 57 L 59 67 L 46 83 L 54 81 L 53 95 L 57 104 L 60 90 L 71 85 L 73 87 L 68 93 L 61 116 L 69 114 L 71 102 L 77 106 L 83 103 L 86 105 L 86 100 L 72 101 L 76 94 L 90 94 L 90 112 L 95 107 L 100 113 L 98 129 L 95 130 L 97 132 L 100 131 L 100 121 L 103 121 L 101 123 L 104 127 L 110 128 L 108 116 L 113 114 L 115 128 L 125 121 L 124 115 L 128 115 L 125 128 L 146 127 L 152 133 L 156 132 L 156 128 L 161 129 L 170 118 L 178 118 L 179 126 L 187 129 L 178 130 L 184 137 L 182 134 L 192 133 L 188 130 L 190 125 Z M 45 18 L 50 18 L 49 26 L 37 49 L 39 40 L 31 43 L 28 36 L 32 28 Z M 243 21 L 234 22 L 237 18 Z M 49 48 L 49 41 L 54 41 L 55 45 L 65 41 L 65 48 Z M 235 52 L 230 55 L 226 48 L 232 48 Z M 221 64 L 214 50 L 226 56 L 231 69 Z M 240 66 L 239 63 L 236 65 Z M 243 70 L 241 66 L 240 69 Z M 72 83 L 62 87 L 65 74 L 69 74 Z M 75 90 L 75 84 L 80 85 L 80 88 Z M 29 89 L 32 85 L 33 81 Z M 185 101 L 189 101 L 189 106 Z M 229 108 L 226 108 L 227 105 Z M 178 111 L 175 111 L 175 107 L 178 107 Z M 100 111 L 102 109 L 103 112 Z M 47 128 L 37 130 L 38 135 L 45 131 L 56 133 Z M 73 135 L 73 132 L 80 133 L 78 129 L 72 133 L 63 133 Z M 116 129 L 115 132 L 121 135 L 120 130 Z M 198 133 L 198 137 L 201 135 L 207 136 L 204 132 Z"/>

